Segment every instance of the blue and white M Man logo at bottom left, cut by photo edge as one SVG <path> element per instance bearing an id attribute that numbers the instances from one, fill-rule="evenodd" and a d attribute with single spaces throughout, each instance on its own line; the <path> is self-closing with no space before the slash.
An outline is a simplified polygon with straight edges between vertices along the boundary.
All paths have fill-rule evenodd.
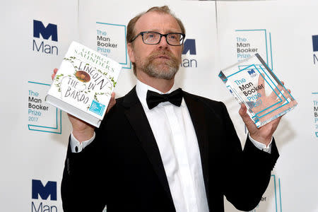
<path id="1" fill-rule="evenodd" d="M 31 211 L 57 211 L 57 182 L 48 181 L 45 185 L 40 179 L 32 179 Z"/>

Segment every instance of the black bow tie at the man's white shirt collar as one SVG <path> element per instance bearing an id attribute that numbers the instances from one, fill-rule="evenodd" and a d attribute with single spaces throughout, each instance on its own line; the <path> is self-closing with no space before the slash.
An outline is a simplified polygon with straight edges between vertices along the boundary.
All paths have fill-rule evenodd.
<path id="1" fill-rule="evenodd" d="M 153 107 L 159 105 L 161 102 L 170 102 L 173 105 L 180 107 L 182 102 L 182 89 L 178 88 L 177 90 L 168 94 L 160 94 L 148 90 L 146 100 L 150 110 L 153 109 Z"/>

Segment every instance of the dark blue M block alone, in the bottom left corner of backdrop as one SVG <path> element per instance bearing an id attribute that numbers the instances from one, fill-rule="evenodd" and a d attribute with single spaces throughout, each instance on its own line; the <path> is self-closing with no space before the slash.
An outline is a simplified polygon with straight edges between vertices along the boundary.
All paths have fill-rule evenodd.
<path id="1" fill-rule="evenodd" d="M 38 199 L 38 194 L 41 199 L 47 199 L 51 195 L 51 200 L 57 200 L 57 182 L 48 181 L 43 186 L 41 180 L 32 179 L 32 199 Z"/>

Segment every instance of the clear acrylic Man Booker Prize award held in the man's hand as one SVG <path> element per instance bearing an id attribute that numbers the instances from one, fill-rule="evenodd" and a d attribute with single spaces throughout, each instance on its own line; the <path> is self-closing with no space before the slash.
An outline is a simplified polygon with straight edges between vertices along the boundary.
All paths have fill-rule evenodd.
<path id="1" fill-rule="evenodd" d="M 293 110 L 298 104 L 259 54 L 254 54 L 220 71 L 218 75 L 226 88 L 257 127 L 271 122 Z"/>

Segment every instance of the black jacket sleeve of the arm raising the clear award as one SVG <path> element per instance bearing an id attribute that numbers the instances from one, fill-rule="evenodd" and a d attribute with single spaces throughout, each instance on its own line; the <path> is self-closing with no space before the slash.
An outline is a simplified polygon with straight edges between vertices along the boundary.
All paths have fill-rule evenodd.
<path id="1" fill-rule="evenodd" d="M 271 153 L 259 150 L 247 138 L 242 151 L 228 111 L 222 103 L 223 142 L 223 192 L 228 201 L 241 211 L 251 211 L 259 204 L 271 179 L 271 170 L 278 159 L 275 140 Z"/>

